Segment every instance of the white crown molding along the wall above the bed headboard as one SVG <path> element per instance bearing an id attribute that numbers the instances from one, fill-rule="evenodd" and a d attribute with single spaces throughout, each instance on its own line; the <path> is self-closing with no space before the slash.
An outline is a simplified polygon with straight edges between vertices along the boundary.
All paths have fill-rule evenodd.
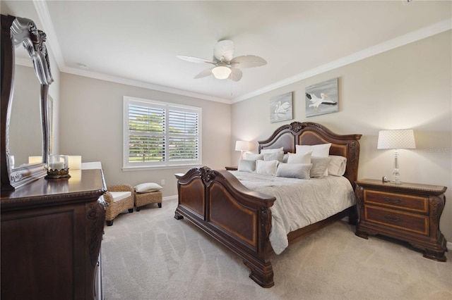
<path id="1" fill-rule="evenodd" d="M 256 91 L 254 91 L 254 92 L 250 92 L 248 94 L 243 94 L 242 96 L 238 96 L 238 97 L 232 99 L 232 104 L 237 103 L 239 101 L 244 101 L 246 99 L 250 99 L 251 97 L 258 96 L 258 95 L 266 93 L 266 92 L 270 92 L 273 89 L 278 89 L 280 87 L 285 87 L 286 85 L 291 85 L 292 83 L 299 82 L 299 81 L 307 79 L 309 77 L 313 77 L 315 75 L 319 75 L 321 73 L 325 73 L 330 70 L 334 70 L 336 68 L 343 67 L 344 65 L 348 65 L 350 63 L 355 63 L 357 61 L 361 61 L 364 58 L 369 58 L 371 56 L 381 54 L 385 51 L 396 49 L 400 46 L 404 46 L 406 44 L 410 44 L 410 43 L 416 42 L 420 39 L 425 39 L 427 37 L 431 37 L 432 35 L 437 35 L 441 32 L 445 32 L 445 31 L 451 30 L 451 29 L 452 29 L 452 18 L 441 21 L 439 23 L 435 23 L 433 25 L 429 25 L 427 27 L 423 27 L 420 30 L 415 30 L 406 35 L 401 35 L 400 37 L 396 37 L 394 39 L 389 39 L 388 41 L 383 42 L 381 44 L 371 46 L 362 51 L 355 52 L 354 54 L 351 54 L 349 56 L 339 58 L 335 61 L 331 61 L 330 63 L 320 65 L 317 68 L 307 70 L 306 72 L 299 73 L 292 77 L 288 77 L 285 80 L 275 82 L 273 85 L 268 85 L 261 89 L 256 89 Z"/>

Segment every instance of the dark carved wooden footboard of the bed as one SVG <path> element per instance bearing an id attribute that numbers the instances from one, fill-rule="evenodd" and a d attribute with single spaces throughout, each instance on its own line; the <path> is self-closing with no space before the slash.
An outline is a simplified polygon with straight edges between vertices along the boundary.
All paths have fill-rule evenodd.
<path id="1" fill-rule="evenodd" d="M 177 174 L 179 205 L 174 218 L 187 218 L 241 256 L 249 277 L 272 287 L 270 206 L 275 197 L 247 189 L 227 171 L 208 167 Z"/>

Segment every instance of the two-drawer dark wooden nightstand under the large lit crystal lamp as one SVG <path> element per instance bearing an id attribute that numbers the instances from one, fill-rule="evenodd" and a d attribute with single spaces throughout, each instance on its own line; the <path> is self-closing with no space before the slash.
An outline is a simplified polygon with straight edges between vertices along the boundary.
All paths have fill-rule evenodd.
<path id="1" fill-rule="evenodd" d="M 386 235 L 409 242 L 424 257 L 446 261 L 446 239 L 439 230 L 447 187 L 381 180 L 358 180 L 355 194 L 359 223 L 355 234 Z"/>

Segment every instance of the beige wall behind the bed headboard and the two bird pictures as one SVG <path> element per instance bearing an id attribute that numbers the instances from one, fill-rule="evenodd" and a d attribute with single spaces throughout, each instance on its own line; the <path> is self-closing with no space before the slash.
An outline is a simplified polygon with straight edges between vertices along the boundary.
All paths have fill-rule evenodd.
<path id="1" fill-rule="evenodd" d="M 393 151 L 377 150 L 379 130 L 412 128 L 417 149 L 400 150 L 405 182 L 444 185 L 441 232 L 452 242 L 451 35 L 444 32 L 232 105 L 232 163 L 236 139 L 266 139 L 285 123 L 270 123 L 269 99 L 294 92 L 294 120 L 316 122 L 339 134 L 362 134 L 359 178 L 391 177 Z M 339 112 L 305 117 L 307 86 L 338 77 Z M 256 151 L 256 149 L 254 149 Z"/>

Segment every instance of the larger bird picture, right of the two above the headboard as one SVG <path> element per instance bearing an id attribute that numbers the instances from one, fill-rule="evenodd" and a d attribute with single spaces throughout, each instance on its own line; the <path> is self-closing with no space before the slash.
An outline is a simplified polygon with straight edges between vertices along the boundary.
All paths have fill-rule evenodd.
<path id="1" fill-rule="evenodd" d="M 306 87 L 306 116 L 324 115 L 339 111 L 338 78 Z"/>

